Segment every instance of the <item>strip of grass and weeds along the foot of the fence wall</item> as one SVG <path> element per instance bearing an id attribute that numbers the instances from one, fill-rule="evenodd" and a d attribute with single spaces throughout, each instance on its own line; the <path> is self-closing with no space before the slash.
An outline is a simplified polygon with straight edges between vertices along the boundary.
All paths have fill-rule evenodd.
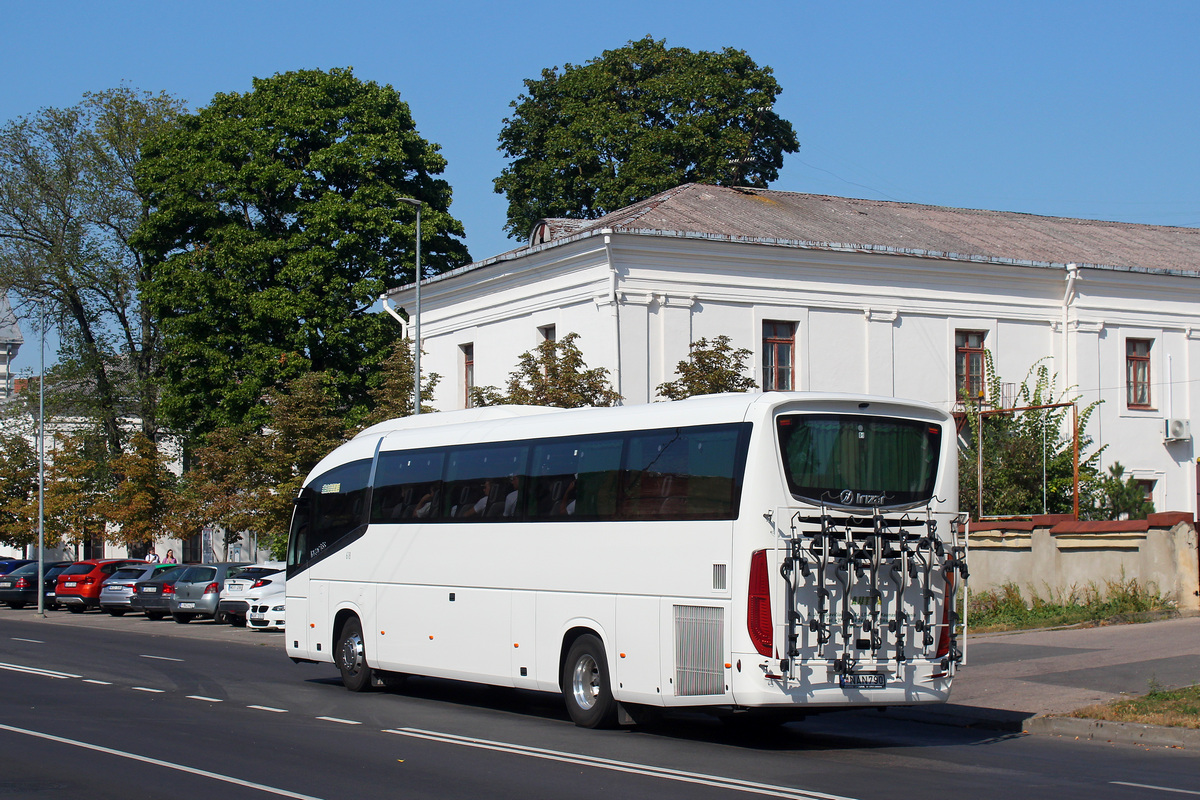
<path id="1" fill-rule="evenodd" d="M 1031 627 L 1054 627 L 1099 622 L 1122 614 L 1165 610 L 1171 603 L 1157 588 L 1136 578 L 1109 581 L 1104 589 L 1090 584 L 1072 588 L 1060 597 L 1042 597 L 1037 593 L 1026 599 L 1015 583 L 1000 589 L 971 595 L 967 622 L 972 631 L 1016 631 Z"/>

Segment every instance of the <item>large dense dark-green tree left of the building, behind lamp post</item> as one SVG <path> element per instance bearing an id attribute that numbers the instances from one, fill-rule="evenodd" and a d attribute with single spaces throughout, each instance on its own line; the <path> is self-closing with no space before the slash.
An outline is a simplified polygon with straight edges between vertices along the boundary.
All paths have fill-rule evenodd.
<path id="1" fill-rule="evenodd" d="M 182 431 L 270 417 L 265 398 L 325 373 L 347 414 L 396 338 L 372 312 L 414 277 L 469 260 L 439 148 L 391 86 L 350 70 L 256 79 L 217 95 L 143 151 L 152 211 L 136 241 L 168 348 L 163 411 Z"/>

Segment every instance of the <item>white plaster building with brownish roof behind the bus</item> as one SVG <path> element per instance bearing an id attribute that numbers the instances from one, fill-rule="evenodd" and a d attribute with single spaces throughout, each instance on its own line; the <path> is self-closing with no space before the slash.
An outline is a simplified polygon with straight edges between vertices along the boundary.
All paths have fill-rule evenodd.
<path id="1" fill-rule="evenodd" d="M 1196 511 L 1200 229 L 685 185 L 544 221 L 527 246 L 421 287 L 440 410 L 571 331 L 625 403 L 654 401 L 692 341 L 722 333 L 754 351 L 762 386 L 948 409 L 982 348 L 1014 383 L 1051 356 L 1060 389 L 1104 401 L 1088 427 L 1104 465 L 1158 510 Z M 413 311 L 413 287 L 390 300 Z"/>

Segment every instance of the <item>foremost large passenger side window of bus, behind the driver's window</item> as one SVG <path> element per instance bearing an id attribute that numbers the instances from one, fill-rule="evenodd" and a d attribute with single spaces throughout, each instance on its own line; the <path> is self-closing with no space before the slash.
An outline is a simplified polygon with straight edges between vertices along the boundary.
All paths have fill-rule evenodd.
<path id="1" fill-rule="evenodd" d="M 422 522 L 438 517 L 442 507 L 440 450 L 392 450 L 379 453 L 371 522 Z"/>

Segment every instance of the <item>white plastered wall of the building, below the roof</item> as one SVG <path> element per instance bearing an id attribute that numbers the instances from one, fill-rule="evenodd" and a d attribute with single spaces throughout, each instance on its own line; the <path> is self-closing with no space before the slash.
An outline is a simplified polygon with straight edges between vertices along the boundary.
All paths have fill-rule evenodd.
<path id="1" fill-rule="evenodd" d="M 613 281 L 616 276 L 616 281 Z M 1164 443 L 1169 417 L 1200 422 L 1200 282 L 1081 269 L 1064 311 L 1062 269 L 833 252 L 652 235 L 598 235 L 442 278 L 422 289 L 433 403 L 464 403 L 461 345 L 476 385 L 503 387 L 539 327 L 580 335 L 589 367 L 625 403 L 655 399 L 689 343 L 727 335 L 762 381 L 763 320 L 796 324 L 796 387 L 955 407 L 955 331 L 985 331 L 997 374 L 1021 383 L 1042 359 L 1057 389 L 1102 401 L 1087 428 L 1102 467 L 1154 481 L 1159 510 L 1196 511 L 1193 440 Z M 408 291 L 397 305 L 410 307 Z M 1064 324 L 1066 323 L 1066 324 Z M 619 331 L 619 336 L 618 336 Z M 1126 404 L 1126 341 L 1153 339 L 1152 408 Z"/>

